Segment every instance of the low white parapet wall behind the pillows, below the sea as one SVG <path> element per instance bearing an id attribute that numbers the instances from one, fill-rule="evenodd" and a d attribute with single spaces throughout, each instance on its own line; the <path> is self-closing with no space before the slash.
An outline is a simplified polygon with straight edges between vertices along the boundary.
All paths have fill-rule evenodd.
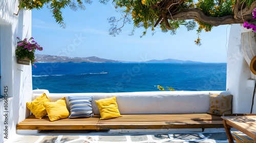
<path id="1" fill-rule="evenodd" d="M 230 94 L 229 91 L 150 91 L 117 93 L 49 93 L 48 90 L 33 90 L 35 99 L 46 93 L 51 102 L 63 97 L 92 96 L 93 113 L 99 114 L 95 100 L 116 97 L 121 114 L 161 114 L 161 113 L 206 113 L 209 110 L 209 92 Z"/>

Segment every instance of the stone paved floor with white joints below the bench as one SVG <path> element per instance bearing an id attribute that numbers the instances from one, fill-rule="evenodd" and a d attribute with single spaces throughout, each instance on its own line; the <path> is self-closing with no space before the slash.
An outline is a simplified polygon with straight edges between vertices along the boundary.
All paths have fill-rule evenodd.
<path id="1" fill-rule="evenodd" d="M 14 140 L 5 142 L 15 143 L 50 143 L 50 142 L 228 142 L 225 131 L 218 132 L 148 132 L 148 131 L 50 131 L 40 132 L 34 135 L 18 135 Z"/>

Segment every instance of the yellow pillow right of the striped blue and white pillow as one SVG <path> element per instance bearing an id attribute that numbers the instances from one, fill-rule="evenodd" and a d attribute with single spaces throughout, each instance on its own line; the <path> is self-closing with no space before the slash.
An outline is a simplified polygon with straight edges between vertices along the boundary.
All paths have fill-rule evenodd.
<path id="1" fill-rule="evenodd" d="M 95 103 L 99 108 L 100 120 L 121 116 L 117 107 L 116 97 L 96 100 Z"/>

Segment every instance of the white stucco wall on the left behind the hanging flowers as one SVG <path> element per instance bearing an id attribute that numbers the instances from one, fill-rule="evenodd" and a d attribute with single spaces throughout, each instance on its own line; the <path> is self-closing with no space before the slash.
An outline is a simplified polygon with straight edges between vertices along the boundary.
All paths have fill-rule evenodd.
<path id="1" fill-rule="evenodd" d="M 0 88 L 2 95 L 8 94 L 8 100 L 0 99 L 0 142 L 15 137 L 16 124 L 29 115 L 26 102 L 32 95 L 31 66 L 17 64 L 15 57 L 16 37 L 31 37 L 31 11 L 14 15 L 17 6 L 17 0 L 0 1 Z"/>

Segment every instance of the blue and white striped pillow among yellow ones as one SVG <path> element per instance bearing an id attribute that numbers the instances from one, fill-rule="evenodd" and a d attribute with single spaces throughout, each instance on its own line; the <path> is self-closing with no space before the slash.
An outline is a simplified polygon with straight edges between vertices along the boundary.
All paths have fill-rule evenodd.
<path id="1" fill-rule="evenodd" d="M 93 116 L 93 97 L 68 97 L 70 105 L 69 118 L 91 117 Z"/>

